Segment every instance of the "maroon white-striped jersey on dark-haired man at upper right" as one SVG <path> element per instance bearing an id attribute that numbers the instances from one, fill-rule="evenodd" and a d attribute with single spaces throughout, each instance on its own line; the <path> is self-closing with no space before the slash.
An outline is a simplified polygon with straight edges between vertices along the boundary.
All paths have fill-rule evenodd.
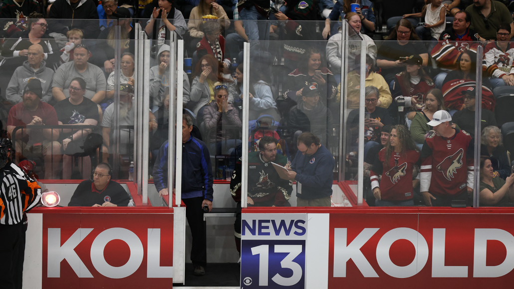
<path id="1" fill-rule="evenodd" d="M 478 34 L 469 28 L 462 38 L 457 38 L 455 31 L 450 27 L 441 33 L 430 55 L 438 62 L 437 66 L 455 70 L 458 68 L 462 52 L 471 50 L 476 53 L 479 41 Z"/>

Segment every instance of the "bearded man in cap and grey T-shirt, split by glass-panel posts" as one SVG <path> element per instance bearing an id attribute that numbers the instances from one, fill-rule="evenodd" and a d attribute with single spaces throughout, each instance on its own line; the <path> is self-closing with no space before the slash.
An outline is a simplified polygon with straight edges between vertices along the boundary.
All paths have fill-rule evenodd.
<path id="1" fill-rule="evenodd" d="M 118 113 L 118 122 L 120 126 L 131 126 L 134 125 L 134 110 L 133 110 L 133 97 L 134 87 L 130 84 L 120 84 L 120 110 Z M 117 103 L 111 103 L 107 106 L 103 114 L 102 119 L 102 135 L 103 135 L 103 161 L 107 162 L 109 153 L 112 153 L 111 147 L 111 129 L 114 126 L 114 107 Z M 149 130 L 152 132 L 157 129 L 157 120 L 152 112 L 149 112 Z M 134 129 L 120 129 L 120 146 L 119 146 L 120 157 L 128 156 L 132 159 L 134 156 Z M 124 162 L 130 164 L 130 162 Z M 126 167 L 128 171 L 128 166 Z"/>

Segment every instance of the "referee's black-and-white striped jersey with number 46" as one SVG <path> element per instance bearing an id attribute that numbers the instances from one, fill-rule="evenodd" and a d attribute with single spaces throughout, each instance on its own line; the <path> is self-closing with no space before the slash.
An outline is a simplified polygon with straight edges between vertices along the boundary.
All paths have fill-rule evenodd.
<path id="1" fill-rule="evenodd" d="M 22 222 L 22 215 L 38 204 L 41 188 L 22 169 L 7 162 L 3 169 L 0 187 L 0 224 L 14 225 Z"/>

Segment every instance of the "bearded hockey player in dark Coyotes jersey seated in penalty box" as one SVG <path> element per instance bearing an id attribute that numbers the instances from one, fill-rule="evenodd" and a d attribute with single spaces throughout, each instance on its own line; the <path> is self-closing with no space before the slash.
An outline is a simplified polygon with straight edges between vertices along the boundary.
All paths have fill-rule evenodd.
<path id="1" fill-rule="evenodd" d="M 278 140 L 263 136 L 259 151 L 248 153 L 248 207 L 290 207 L 292 182 L 282 179 L 271 162 L 286 166 L 287 157 L 277 154 Z M 236 202 L 234 237 L 237 251 L 241 253 L 241 158 L 235 163 L 230 180 L 230 193 Z"/>

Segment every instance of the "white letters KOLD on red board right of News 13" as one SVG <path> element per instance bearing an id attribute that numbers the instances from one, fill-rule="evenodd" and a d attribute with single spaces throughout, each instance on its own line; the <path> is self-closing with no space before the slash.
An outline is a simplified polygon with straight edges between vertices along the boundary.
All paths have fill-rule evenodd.
<path id="1" fill-rule="evenodd" d="M 361 248 L 378 228 L 365 228 L 348 244 L 347 229 L 334 229 L 334 277 L 346 277 L 346 263 L 351 259 L 364 277 L 379 277 Z M 446 229 L 433 228 L 432 231 L 432 277 L 467 278 L 468 266 L 445 265 Z M 390 248 L 397 240 L 407 240 L 414 245 L 414 260 L 407 266 L 398 266 L 391 261 Z M 487 241 L 501 242 L 506 249 L 505 260 L 498 265 L 486 265 Z M 509 232 L 495 228 L 475 228 L 473 243 L 473 277 L 501 277 L 514 269 L 514 237 Z M 421 233 L 411 228 L 394 228 L 378 241 L 376 260 L 382 271 L 395 278 L 409 278 L 419 273 L 429 259 L 429 245 Z"/>

